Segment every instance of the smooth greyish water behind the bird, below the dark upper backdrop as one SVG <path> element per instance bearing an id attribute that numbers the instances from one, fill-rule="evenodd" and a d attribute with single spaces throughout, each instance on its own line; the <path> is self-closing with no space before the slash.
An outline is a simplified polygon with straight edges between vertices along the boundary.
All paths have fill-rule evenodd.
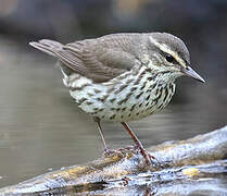
<path id="1" fill-rule="evenodd" d="M 96 125 L 61 81 L 54 60 L 0 39 L 0 187 L 102 154 Z M 178 81 L 178 97 L 161 113 L 130 125 L 146 147 L 223 126 L 227 88 Z M 181 85 L 179 85 L 181 83 Z M 111 148 L 131 144 L 119 124 L 104 123 Z"/>

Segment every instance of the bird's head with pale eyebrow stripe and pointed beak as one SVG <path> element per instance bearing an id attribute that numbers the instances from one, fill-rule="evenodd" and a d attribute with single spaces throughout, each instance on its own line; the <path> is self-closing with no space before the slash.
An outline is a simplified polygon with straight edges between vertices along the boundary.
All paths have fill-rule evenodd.
<path id="1" fill-rule="evenodd" d="M 191 69 L 190 54 L 181 39 L 167 33 L 152 33 L 149 34 L 148 39 L 153 70 L 169 72 L 175 78 L 187 75 L 202 83 L 205 82 Z"/>

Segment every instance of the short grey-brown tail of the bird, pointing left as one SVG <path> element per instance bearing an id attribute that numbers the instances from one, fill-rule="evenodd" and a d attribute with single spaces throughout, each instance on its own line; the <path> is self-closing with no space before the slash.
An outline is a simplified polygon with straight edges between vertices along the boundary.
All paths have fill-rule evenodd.
<path id="1" fill-rule="evenodd" d="M 29 45 L 53 57 L 56 57 L 56 52 L 59 50 L 62 50 L 63 48 L 63 45 L 61 42 L 49 40 L 49 39 L 31 41 L 29 42 Z"/>

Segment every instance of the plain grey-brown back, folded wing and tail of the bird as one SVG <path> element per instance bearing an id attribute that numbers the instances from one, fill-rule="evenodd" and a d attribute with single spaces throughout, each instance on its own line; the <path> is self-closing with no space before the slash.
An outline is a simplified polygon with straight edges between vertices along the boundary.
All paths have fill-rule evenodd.
<path id="1" fill-rule="evenodd" d="M 137 61 L 135 51 L 138 34 L 114 34 L 67 45 L 42 39 L 30 42 L 97 83 L 106 82 L 130 70 Z"/>

